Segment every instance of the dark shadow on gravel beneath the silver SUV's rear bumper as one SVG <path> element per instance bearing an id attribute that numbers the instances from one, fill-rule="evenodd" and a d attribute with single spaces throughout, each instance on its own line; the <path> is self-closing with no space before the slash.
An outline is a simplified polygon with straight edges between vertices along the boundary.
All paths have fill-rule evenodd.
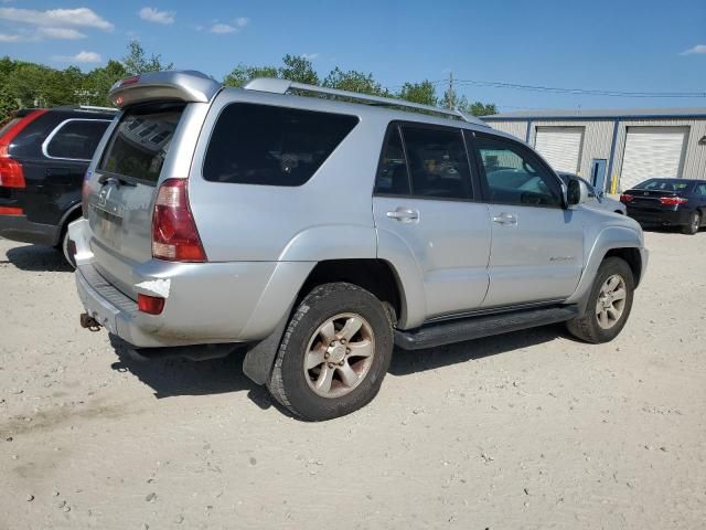
<path id="1" fill-rule="evenodd" d="M 191 361 L 181 357 L 141 357 L 114 335 L 110 335 L 110 344 L 118 356 L 118 361 L 110 368 L 130 372 L 151 388 L 157 399 L 247 392 L 247 398 L 260 409 L 275 406 L 289 415 L 269 398 L 265 386 L 255 384 L 243 373 L 243 351 L 234 351 L 221 359 Z"/>

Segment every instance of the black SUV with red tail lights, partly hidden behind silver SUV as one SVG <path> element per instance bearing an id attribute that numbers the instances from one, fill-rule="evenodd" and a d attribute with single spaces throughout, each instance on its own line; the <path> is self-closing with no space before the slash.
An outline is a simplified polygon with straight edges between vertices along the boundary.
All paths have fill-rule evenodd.
<path id="1" fill-rule="evenodd" d="M 101 107 L 19 110 L 0 128 L 0 236 L 68 252 L 84 173 L 116 112 Z"/>

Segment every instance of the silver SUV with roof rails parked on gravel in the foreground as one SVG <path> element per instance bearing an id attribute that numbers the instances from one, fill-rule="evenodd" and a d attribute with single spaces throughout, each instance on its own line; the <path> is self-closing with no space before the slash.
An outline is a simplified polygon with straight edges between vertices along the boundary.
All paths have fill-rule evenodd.
<path id="1" fill-rule="evenodd" d="M 560 321 L 605 342 L 628 319 L 640 226 L 480 120 L 197 72 L 110 94 L 71 239 L 82 325 L 142 354 L 242 347 L 245 373 L 315 421 L 368 403 L 394 346 Z"/>

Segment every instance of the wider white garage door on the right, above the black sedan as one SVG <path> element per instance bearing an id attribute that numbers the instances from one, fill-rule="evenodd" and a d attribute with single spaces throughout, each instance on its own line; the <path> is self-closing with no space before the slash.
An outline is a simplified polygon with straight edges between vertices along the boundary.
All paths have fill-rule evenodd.
<path id="1" fill-rule="evenodd" d="M 684 127 L 628 127 L 620 172 L 621 190 L 629 190 L 652 177 L 680 177 L 687 130 Z"/>

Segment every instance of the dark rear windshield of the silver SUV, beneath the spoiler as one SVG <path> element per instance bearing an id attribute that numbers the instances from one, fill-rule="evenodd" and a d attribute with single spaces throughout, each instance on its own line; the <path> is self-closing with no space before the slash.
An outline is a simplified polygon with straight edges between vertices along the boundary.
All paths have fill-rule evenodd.
<path id="1" fill-rule="evenodd" d="M 140 105 L 120 118 L 100 170 L 156 183 L 184 105 Z"/>

